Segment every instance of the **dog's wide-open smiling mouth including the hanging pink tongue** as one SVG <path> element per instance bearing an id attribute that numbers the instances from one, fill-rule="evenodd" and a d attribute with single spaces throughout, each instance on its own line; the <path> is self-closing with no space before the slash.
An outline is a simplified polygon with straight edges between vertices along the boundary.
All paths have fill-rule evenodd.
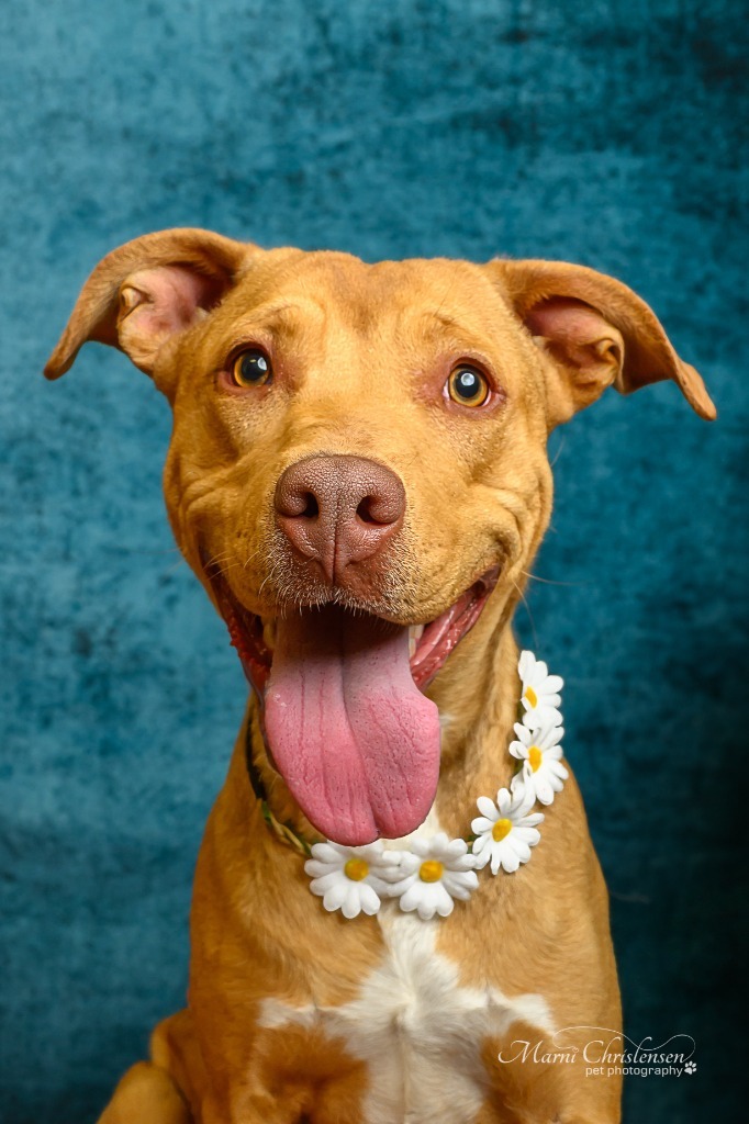
<path id="1" fill-rule="evenodd" d="M 336 605 L 264 623 L 213 579 L 263 708 L 269 758 L 328 839 L 357 846 L 423 823 L 440 771 L 439 713 L 423 691 L 476 624 L 497 572 L 410 627 Z"/>

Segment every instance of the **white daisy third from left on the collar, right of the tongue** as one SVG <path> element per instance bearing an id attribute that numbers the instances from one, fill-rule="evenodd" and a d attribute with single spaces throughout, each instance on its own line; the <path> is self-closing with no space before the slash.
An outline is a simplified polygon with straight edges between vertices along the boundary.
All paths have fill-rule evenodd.
<path id="1" fill-rule="evenodd" d="M 522 862 L 527 862 L 531 847 L 541 839 L 536 824 L 543 821 L 543 814 L 527 815 L 533 806 L 533 794 L 523 785 L 520 774 L 514 778 L 512 789 L 509 792 L 500 788 L 496 804 L 488 796 L 479 796 L 476 801 L 481 813 L 471 823 L 471 831 L 478 836 L 473 841 L 476 865 L 480 869 L 490 860 L 493 874 L 499 867 L 512 874 Z"/>

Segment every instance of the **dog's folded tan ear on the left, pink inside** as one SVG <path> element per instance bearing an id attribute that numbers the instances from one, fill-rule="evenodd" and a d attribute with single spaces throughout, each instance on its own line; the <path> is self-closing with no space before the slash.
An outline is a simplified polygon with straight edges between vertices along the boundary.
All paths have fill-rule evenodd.
<path id="1" fill-rule="evenodd" d="M 161 345 L 218 303 L 255 248 L 192 228 L 127 242 L 83 285 L 45 375 L 64 374 L 87 339 L 119 347 L 152 374 Z"/>

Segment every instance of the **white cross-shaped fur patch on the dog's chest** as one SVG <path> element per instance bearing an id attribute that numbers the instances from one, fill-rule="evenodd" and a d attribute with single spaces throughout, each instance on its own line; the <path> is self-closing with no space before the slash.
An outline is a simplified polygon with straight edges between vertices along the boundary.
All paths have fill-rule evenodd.
<path id="1" fill-rule="evenodd" d="M 484 1040 L 518 1018 L 548 1028 L 547 1004 L 461 987 L 457 967 L 435 951 L 439 921 L 403 914 L 395 903 L 378 921 L 386 952 L 355 999 L 303 1008 L 267 999 L 261 1024 L 322 1025 L 343 1040 L 368 1066 L 368 1124 L 470 1124 L 487 1093 Z"/>

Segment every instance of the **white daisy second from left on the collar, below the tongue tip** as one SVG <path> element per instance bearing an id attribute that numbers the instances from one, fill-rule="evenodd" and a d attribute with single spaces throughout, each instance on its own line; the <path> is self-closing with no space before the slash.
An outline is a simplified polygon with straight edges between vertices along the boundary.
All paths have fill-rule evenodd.
<path id="1" fill-rule="evenodd" d="M 448 917 L 453 898 L 466 901 L 478 887 L 476 861 L 468 854 L 468 844 L 439 832 L 431 840 L 412 840 L 410 850 L 401 863 L 407 874 L 390 892 L 400 898 L 405 913 L 415 909 L 422 921 L 430 921 L 435 913 Z"/>

